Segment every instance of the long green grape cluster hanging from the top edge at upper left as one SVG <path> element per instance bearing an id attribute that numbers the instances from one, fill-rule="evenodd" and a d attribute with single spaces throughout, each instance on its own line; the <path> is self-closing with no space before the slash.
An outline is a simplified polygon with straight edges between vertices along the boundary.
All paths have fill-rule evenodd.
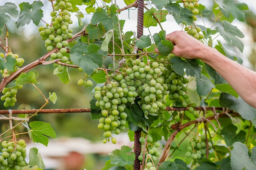
<path id="1" fill-rule="evenodd" d="M 51 53 L 50 60 L 61 59 L 63 63 L 70 63 L 68 57 L 64 54 L 67 53 L 66 47 L 68 46 L 68 41 L 66 39 L 73 37 L 73 30 L 69 29 L 69 24 L 72 24 L 70 16 L 73 10 L 72 4 L 68 0 L 59 1 L 56 0 L 53 4 L 54 10 L 51 11 L 51 25 L 46 24 L 46 27 L 39 27 L 38 31 L 40 32 L 42 40 L 45 40 L 45 47 L 48 51 L 53 50 L 57 47 L 56 53 Z M 54 63 L 54 67 L 57 68 L 59 65 Z M 63 66 L 58 68 L 58 71 L 61 72 Z"/>

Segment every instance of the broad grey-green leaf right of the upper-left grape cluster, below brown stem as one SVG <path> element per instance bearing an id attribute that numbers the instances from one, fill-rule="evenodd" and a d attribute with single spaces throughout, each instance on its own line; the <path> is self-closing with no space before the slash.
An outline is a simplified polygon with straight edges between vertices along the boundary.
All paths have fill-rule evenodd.
<path id="1" fill-rule="evenodd" d="M 99 54 L 98 50 L 100 47 L 96 44 L 77 44 L 71 49 L 70 58 L 85 73 L 91 75 L 95 69 L 102 66 L 103 54 Z"/>

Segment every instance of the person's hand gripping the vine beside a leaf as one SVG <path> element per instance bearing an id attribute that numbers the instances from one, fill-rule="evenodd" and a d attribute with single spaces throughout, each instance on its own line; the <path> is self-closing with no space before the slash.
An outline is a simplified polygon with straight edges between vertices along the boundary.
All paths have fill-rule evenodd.
<path id="1" fill-rule="evenodd" d="M 171 53 L 183 58 L 202 59 L 204 55 L 207 54 L 208 48 L 210 48 L 184 31 L 174 31 L 167 34 L 166 39 L 171 41 L 174 45 Z M 159 53 L 157 48 L 155 51 Z"/>

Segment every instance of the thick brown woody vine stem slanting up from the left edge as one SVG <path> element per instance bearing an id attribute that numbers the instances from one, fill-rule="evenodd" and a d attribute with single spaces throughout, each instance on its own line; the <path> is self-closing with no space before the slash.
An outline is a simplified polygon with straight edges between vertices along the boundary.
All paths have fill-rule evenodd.
<path id="1" fill-rule="evenodd" d="M 82 36 L 82 35 L 88 35 L 87 33 L 85 33 L 85 28 L 86 26 L 82 29 L 82 31 L 78 32 L 77 34 L 74 34 L 74 36 L 70 39 L 67 39 L 66 41 L 71 42 L 74 41 L 75 39 L 77 39 L 78 37 Z M 6 40 L 7 41 L 7 40 Z M 7 48 L 7 45 L 6 45 Z M 46 53 L 45 55 L 43 55 L 41 58 L 39 58 L 38 60 L 29 63 L 28 65 L 22 67 L 21 69 L 17 70 L 16 72 L 14 72 L 13 74 L 11 74 L 9 77 L 4 77 L 2 78 L 2 82 L 0 83 L 0 90 L 2 91 L 3 88 L 11 81 L 13 81 L 14 79 L 16 79 L 21 73 L 25 73 L 28 72 L 29 70 L 33 69 L 34 67 L 43 64 L 44 61 L 50 57 L 51 53 L 56 52 L 57 49 L 53 49 L 51 51 L 49 51 L 48 53 Z"/>

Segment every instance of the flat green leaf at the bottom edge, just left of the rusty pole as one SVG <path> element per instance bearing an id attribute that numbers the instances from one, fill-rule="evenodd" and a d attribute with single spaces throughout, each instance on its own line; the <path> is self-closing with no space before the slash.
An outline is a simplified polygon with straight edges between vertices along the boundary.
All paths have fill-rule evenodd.
<path id="1" fill-rule="evenodd" d="M 132 152 L 132 148 L 122 146 L 120 150 L 116 149 L 109 153 L 109 157 L 111 159 L 111 164 L 120 166 L 133 165 L 135 153 Z"/>

